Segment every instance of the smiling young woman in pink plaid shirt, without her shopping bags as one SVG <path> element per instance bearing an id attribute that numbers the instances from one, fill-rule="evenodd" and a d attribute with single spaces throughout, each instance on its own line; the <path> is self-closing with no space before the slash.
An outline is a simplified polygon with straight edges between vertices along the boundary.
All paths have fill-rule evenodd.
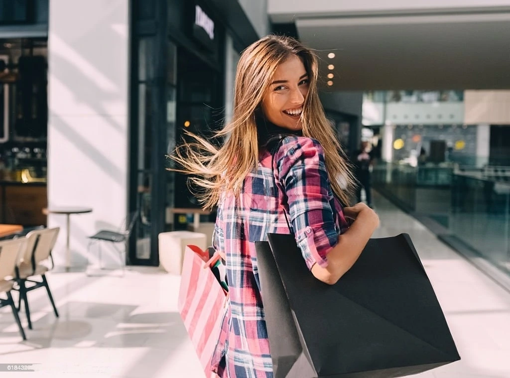
<path id="1" fill-rule="evenodd" d="M 254 242 L 289 233 L 284 212 L 311 273 L 327 284 L 354 264 L 378 226 L 366 205 L 341 205 L 349 194 L 340 182 L 352 188 L 353 179 L 317 78 L 310 49 L 292 38 L 262 38 L 240 58 L 233 119 L 218 133 L 224 144 L 195 137 L 173 156 L 205 188 L 204 206 L 218 206 L 214 247 L 225 258 L 230 291 L 213 356 L 219 376 L 273 376 Z"/>

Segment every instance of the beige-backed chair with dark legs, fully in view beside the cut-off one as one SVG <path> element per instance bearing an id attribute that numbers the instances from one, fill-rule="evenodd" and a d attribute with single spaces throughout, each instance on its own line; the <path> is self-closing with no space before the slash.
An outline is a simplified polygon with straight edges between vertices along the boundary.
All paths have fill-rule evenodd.
<path id="1" fill-rule="evenodd" d="M 19 290 L 18 311 L 21 310 L 22 300 L 24 303 L 25 315 L 27 315 L 27 321 L 29 323 L 29 329 L 32 329 L 32 321 L 30 320 L 30 308 L 27 296 L 29 291 L 38 289 L 40 287 L 45 287 L 48 293 L 49 301 L 52 303 L 55 316 L 59 317 L 59 313 L 57 311 L 57 307 L 55 306 L 52 292 L 49 290 L 48 281 L 46 280 L 45 275 L 48 270 L 53 269 L 54 267 L 52 249 L 55 246 L 59 232 L 60 227 L 55 227 L 53 229 L 34 230 L 29 232 L 25 237 L 25 240 L 27 241 L 27 247 L 25 248 L 22 260 L 20 260 L 15 269 L 14 280 L 19 286 L 18 288 L 14 288 L 14 290 Z M 46 262 L 48 260 L 52 263 L 51 267 L 47 267 L 46 265 L 42 264 L 42 262 Z M 32 280 L 32 278 L 37 275 L 41 276 L 42 281 Z M 35 285 L 27 287 L 27 283 Z"/>

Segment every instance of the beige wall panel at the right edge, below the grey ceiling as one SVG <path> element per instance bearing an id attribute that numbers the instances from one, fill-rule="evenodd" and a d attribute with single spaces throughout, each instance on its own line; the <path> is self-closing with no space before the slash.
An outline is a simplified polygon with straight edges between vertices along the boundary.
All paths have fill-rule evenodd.
<path id="1" fill-rule="evenodd" d="M 465 123 L 510 124 L 510 90 L 467 90 L 464 104 Z"/>

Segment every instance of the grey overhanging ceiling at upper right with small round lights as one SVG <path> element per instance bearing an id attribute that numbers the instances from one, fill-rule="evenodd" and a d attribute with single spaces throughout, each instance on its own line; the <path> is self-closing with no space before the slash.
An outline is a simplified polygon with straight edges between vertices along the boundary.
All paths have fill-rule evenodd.
<path id="1" fill-rule="evenodd" d="M 295 26 L 324 82 L 335 65 L 332 90 L 510 88 L 510 12 L 299 16 Z"/>

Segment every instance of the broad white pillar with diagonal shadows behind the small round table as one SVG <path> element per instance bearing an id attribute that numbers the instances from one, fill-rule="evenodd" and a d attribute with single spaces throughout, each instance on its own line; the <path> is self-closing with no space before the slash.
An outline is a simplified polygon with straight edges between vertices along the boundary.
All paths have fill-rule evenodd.
<path id="1" fill-rule="evenodd" d="M 48 205 L 93 209 L 71 215 L 74 265 L 85 261 L 87 236 L 126 216 L 128 4 L 49 2 Z M 48 225 L 61 227 L 54 258 L 62 265 L 65 216 L 50 215 Z"/>

